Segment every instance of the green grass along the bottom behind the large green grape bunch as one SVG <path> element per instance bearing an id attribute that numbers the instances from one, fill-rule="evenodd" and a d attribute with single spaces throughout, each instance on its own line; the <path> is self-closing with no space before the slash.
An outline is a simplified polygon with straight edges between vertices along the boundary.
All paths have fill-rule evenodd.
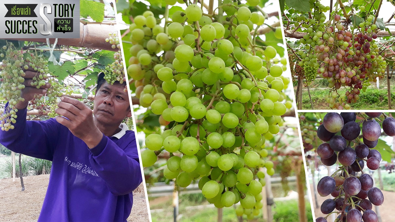
<path id="1" fill-rule="evenodd" d="M 181 199 L 181 198 L 180 198 Z M 171 202 L 171 201 L 170 201 Z M 207 202 L 206 202 L 207 203 Z M 179 222 L 208 222 L 217 221 L 218 209 L 216 208 L 205 208 L 205 209 L 186 209 L 185 206 L 194 204 L 191 201 L 182 199 L 179 205 L 179 214 L 182 214 Z M 155 208 L 158 205 L 155 206 Z M 163 204 L 165 211 L 161 212 L 151 212 L 152 222 L 162 222 L 162 221 L 173 221 L 173 207 L 171 203 Z M 152 209 L 152 207 L 151 207 Z M 158 209 L 158 208 L 156 208 Z M 309 201 L 306 201 L 306 211 L 307 219 L 312 222 L 312 213 Z M 299 221 L 298 215 L 298 203 L 296 200 L 291 201 L 277 201 L 275 206 L 272 208 L 273 222 L 295 222 Z M 246 216 L 243 218 L 247 221 Z M 224 207 L 222 211 L 222 221 L 223 222 L 237 222 L 237 216 L 235 209 L 233 207 Z M 262 211 L 258 216 L 255 216 L 254 222 L 263 222 Z"/>

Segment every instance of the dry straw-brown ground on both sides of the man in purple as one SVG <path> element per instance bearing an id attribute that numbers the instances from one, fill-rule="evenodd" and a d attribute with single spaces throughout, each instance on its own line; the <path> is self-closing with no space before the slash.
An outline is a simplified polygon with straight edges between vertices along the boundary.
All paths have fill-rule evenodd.
<path id="1" fill-rule="evenodd" d="M 0 179 L 0 221 L 37 221 L 47 192 L 49 175 L 23 178 L 25 190 L 21 192 L 21 181 Z M 149 221 L 144 188 L 141 184 L 133 198 L 133 209 L 128 221 Z"/>

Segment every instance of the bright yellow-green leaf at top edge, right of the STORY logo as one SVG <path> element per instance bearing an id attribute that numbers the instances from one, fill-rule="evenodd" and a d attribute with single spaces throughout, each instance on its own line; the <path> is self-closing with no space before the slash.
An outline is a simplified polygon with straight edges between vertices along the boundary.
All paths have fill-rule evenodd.
<path id="1" fill-rule="evenodd" d="M 90 0 L 80 0 L 80 16 L 87 18 L 90 16 L 96 22 L 104 19 L 104 4 Z"/>

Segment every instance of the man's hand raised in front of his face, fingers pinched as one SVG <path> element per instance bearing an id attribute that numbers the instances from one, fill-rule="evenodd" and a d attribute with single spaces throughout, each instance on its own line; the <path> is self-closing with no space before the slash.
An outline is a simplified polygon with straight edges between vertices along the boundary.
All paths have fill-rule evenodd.
<path id="1" fill-rule="evenodd" d="M 71 133 L 82 139 L 88 148 L 96 147 L 103 137 L 102 132 L 96 126 L 92 116 L 92 110 L 79 100 L 62 96 L 55 112 L 64 117 L 56 116 L 63 126 L 69 128 Z"/>

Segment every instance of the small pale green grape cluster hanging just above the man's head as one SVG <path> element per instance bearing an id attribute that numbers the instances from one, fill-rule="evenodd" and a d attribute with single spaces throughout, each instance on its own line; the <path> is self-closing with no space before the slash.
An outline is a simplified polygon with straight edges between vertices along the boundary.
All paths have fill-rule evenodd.
<path id="1" fill-rule="evenodd" d="M 109 38 L 105 39 L 106 42 L 111 44 L 111 48 L 118 48 L 118 52 L 114 53 L 115 61 L 105 67 L 104 79 L 107 80 L 108 84 L 113 85 L 115 81 L 120 84 L 124 82 L 125 72 L 124 64 L 122 59 L 122 52 L 120 50 L 120 43 L 117 33 L 109 33 Z"/>

